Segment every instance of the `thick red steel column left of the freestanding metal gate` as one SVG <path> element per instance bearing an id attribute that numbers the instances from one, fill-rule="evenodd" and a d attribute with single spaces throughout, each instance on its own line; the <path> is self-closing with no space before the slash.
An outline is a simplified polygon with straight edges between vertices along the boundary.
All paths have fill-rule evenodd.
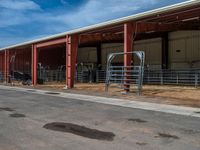
<path id="1" fill-rule="evenodd" d="M 67 35 L 66 41 L 66 84 L 67 88 L 73 88 L 76 71 L 78 35 Z"/>

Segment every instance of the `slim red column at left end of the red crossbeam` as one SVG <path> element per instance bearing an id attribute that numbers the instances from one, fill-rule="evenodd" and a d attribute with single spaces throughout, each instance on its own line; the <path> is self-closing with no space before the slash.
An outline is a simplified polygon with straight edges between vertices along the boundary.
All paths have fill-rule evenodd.
<path id="1" fill-rule="evenodd" d="M 35 86 L 37 84 L 37 48 L 32 45 L 32 84 Z"/>

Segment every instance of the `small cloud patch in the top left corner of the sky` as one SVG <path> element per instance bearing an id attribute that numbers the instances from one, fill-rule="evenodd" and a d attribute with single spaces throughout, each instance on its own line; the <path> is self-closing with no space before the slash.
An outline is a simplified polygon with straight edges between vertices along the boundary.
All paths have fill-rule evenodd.
<path id="1" fill-rule="evenodd" d="M 40 6 L 31 0 L 0 0 L 0 7 L 20 11 L 40 9 Z"/>

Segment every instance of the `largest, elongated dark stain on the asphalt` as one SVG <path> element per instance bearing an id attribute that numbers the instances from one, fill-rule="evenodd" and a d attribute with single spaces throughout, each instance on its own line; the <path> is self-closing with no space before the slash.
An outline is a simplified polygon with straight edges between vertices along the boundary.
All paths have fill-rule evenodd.
<path id="1" fill-rule="evenodd" d="M 112 132 L 104 132 L 96 129 L 90 129 L 72 123 L 53 122 L 44 125 L 43 128 L 54 131 L 72 133 L 82 137 L 103 141 L 113 141 L 115 137 L 115 134 Z"/>

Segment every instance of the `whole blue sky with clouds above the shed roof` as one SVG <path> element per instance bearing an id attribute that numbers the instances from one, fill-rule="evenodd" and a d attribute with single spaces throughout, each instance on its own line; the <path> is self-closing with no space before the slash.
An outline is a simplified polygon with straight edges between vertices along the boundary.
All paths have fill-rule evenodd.
<path id="1" fill-rule="evenodd" d="M 186 0 L 0 0 L 0 47 Z"/>

